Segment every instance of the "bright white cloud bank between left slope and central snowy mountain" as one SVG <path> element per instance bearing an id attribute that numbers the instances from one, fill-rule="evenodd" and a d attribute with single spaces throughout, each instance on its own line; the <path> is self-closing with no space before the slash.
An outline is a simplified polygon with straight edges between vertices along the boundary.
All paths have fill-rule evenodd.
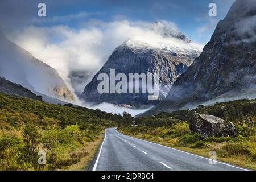
<path id="1" fill-rule="evenodd" d="M 73 16 L 82 15 L 84 14 Z M 174 23 L 165 23 L 177 30 Z M 147 42 L 159 38 L 159 32 L 148 30 L 150 24 L 129 20 L 108 23 L 90 20 L 76 29 L 67 26 L 30 26 L 13 32 L 9 37 L 36 58 L 55 68 L 65 82 L 69 83 L 68 74 L 71 71 L 96 73 L 113 50 L 127 38 L 137 37 Z"/>

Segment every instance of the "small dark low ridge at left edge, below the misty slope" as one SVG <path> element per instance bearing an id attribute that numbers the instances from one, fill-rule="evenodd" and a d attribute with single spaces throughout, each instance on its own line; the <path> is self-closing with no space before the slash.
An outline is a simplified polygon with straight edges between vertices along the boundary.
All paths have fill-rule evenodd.
<path id="1" fill-rule="evenodd" d="M 4 92 L 9 95 L 15 94 L 17 96 L 42 101 L 42 97 L 36 96 L 36 94 L 32 93 L 27 88 L 24 88 L 18 84 L 14 84 L 13 82 L 10 82 L 3 77 L 0 77 L 0 92 Z"/>

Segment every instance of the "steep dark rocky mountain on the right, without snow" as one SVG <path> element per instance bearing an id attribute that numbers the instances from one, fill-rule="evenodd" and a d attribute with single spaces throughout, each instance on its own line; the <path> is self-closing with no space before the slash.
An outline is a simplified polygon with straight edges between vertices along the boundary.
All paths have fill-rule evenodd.
<path id="1" fill-rule="evenodd" d="M 167 98 L 142 115 L 256 97 L 256 1 L 237 0 Z"/>

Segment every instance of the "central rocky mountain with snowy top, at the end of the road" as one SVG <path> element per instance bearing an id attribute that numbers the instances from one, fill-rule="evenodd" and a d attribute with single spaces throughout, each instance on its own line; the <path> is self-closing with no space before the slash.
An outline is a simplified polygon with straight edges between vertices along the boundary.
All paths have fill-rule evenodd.
<path id="1" fill-rule="evenodd" d="M 86 85 L 80 97 L 86 102 L 95 104 L 108 102 L 134 107 L 148 107 L 166 98 L 174 81 L 187 71 L 195 58 L 200 55 L 202 47 L 192 43 L 187 36 L 172 29 L 166 22 L 155 22 L 148 27 L 148 31 L 158 36 L 147 39 L 134 37 L 118 46 L 92 81 Z M 98 93 L 97 86 L 101 82 L 97 80 L 98 75 L 106 73 L 110 77 L 110 69 L 115 69 L 115 75 L 124 73 L 127 78 L 129 73 L 146 75 L 158 73 L 158 100 L 148 100 L 147 93 Z M 115 81 L 115 84 L 117 82 Z"/>

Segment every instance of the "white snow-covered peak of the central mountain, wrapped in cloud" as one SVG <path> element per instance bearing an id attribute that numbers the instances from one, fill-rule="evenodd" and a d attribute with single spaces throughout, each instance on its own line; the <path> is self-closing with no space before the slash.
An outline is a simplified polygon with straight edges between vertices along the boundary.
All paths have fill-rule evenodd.
<path id="1" fill-rule="evenodd" d="M 137 51 L 155 49 L 175 55 L 195 55 L 201 53 L 203 46 L 191 42 L 175 24 L 167 21 L 155 22 L 148 27 L 147 34 L 128 38 L 118 48 L 133 48 Z"/>

